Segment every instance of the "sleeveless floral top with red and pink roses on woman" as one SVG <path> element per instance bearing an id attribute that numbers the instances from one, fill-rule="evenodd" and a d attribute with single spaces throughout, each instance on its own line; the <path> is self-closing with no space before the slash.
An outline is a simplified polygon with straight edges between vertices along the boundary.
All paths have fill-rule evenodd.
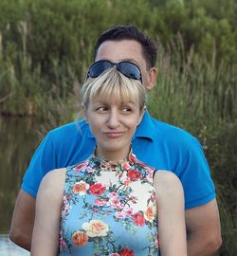
<path id="1" fill-rule="evenodd" d="M 67 167 L 59 255 L 159 255 L 154 172 L 132 153 Z"/>

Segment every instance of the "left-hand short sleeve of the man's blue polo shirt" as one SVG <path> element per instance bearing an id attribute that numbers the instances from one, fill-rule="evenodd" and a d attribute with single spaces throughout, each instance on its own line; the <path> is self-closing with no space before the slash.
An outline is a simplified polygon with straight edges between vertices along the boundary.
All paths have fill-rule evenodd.
<path id="1" fill-rule="evenodd" d="M 41 180 L 47 172 L 57 168 L 56 165 L 56 154 L 48 133 L 31 158 L 21 188 L 35 197 Z"/>

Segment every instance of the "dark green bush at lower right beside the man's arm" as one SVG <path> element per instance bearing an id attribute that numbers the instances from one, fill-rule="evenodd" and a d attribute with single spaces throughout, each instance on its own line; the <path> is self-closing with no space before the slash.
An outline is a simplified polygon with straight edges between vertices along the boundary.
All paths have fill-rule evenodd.
<path id="1" fill-rule="evenodd" d="M 224 121 L 208 141 L 207 153 L 215 180 L 224 245 L 220 255 L 237 252 L 237 122 Z"/>

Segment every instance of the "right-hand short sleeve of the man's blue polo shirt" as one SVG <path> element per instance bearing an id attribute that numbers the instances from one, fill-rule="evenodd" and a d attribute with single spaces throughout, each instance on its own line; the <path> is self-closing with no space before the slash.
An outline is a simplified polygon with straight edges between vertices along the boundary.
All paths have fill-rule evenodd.
<path id="1" fill-rule="evenodd" d="M 216 196 L 210 167 L 201 144 L 195 137 L 191 137 L 187 149 L 176 170 L 183 184 L 186 210 L 204 205 Z"/>

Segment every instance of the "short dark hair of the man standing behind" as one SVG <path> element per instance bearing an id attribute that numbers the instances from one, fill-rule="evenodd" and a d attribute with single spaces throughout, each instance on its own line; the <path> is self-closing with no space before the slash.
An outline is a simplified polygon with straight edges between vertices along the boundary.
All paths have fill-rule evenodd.
<path id="1" fill-rule="evenodd" d="M 142 46 L 142 52 L 147 66 L 155 66 L 157 48 L 155 42 L 138 30 L 135 26 L 116 26 L 102 32 L 94 48 L 94 58 L 96 59 L 98 49 L 105 41 L 135 40 Z"/>

